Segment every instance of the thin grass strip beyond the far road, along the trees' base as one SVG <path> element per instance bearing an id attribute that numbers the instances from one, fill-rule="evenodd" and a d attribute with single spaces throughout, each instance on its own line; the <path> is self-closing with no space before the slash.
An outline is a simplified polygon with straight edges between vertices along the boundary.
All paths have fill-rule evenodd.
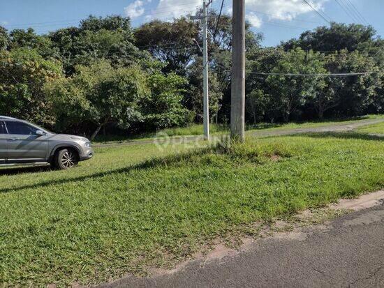
<path id="1" fill-rule="evenodd" d="M 362 117 L 357 117 L 355 119 L 328 119 L 323 121 L 311 121 L 311 122 L 300 122 L 300 123 L 258 123 L 254 125 L 247 125 L 246 130 L 251 133 L 258 130 L 286 130 L 286 129 L 295 129 L 295 128 L 313 128 L 320 126 L 328 126 L 334 125 L 338 123 L 354 123 L 355 121 L 360 121 L 364 119 L 378 119 L 384 118 L 384 115 L 367 115 Z M 229 128 L 225 125 L 210 125 L 210 132 L 212 134 L 222 134 L 224 132 L 228 132 Z M 163 129 L 158 132 L 145 133 L 142 135 L 131 135 L 131 136 L 116 136 L 116 135 L 99 135 L 95 139 L 95 143 L 111 143 L 111 142 L 132 142 L 137 139 L 152 139 L 154 137 L 161 137 L 162 135 L 168 135 L 169 137 L 177 137 L 177 136 L 189 136 L 189 135 L 202 135 L 203 128 L 202 124 L 193 124 L 187 127 L 179 127 L 179 128 L 169 128 Z"/>

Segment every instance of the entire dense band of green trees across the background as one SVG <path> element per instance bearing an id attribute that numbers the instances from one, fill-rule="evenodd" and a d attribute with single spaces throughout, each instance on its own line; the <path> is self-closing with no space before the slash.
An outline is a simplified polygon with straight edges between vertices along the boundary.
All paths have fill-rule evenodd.
<path id="1" fill-rule="evenodd" d="M 218 23 L 217 16 L 209 11 L 209 114 L 212 122 L 226 124 L 231 105 L 232 19 L 223 14 Z M 133 29 L 131 20 L 121 16 L 89 16 L 77 27 L 48 35 L 33 29 L 8 33 L 0 26 L 0 113 L 80 134 L 91 130 L 97 134 L 101 128 L 125 135 L 151 133 L 192 120 L 200 123 L 202 57 L 197 43 L 202 46 L 201 29 L 200 22 L 186 17 L 154 20 Z M 261 47 L 262 39 L 247 22 L 247 122 L 384 112 L 384 40 L 371 26 L 333 23 L 278 47 Z M 267 77 L 255 72 L 369 73 Z M 116 101 L 116 108 L 105 107 Z"/>

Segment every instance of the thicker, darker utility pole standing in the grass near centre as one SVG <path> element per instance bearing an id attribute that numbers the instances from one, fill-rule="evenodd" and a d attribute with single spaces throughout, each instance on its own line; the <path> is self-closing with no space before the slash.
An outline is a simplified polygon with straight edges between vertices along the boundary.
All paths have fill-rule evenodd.
<path id="1" fill-rule="evenodd" d="M 230 137 L 245 139 L 245 0 L 232 2 L 232 86 Z"/>

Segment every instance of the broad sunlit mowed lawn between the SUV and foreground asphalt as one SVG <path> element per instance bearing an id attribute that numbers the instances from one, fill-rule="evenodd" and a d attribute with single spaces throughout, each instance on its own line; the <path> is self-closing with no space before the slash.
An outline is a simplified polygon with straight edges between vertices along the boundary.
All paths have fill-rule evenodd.
<path id="1" fill-rule="evenodd" d="M 255 234 L 255 221 L 383 188 L 383 162 L 382 138 L 328 133 L 198 151 L 120 146 L 68 172 L 0 170 L 0 287 L 168 266 L 240 228 Z"/>

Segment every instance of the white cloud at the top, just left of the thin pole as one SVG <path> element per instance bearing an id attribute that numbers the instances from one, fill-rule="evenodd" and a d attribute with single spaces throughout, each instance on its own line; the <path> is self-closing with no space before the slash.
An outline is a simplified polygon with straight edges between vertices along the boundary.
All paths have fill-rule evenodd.
<path id="1" fill-rule="evenodd" d="M 186 14 L 194 14 L 196 8 L 202 6 L 201 0 L 160 0 L 152 16 L 158 19 L 177 18 Z"/>

